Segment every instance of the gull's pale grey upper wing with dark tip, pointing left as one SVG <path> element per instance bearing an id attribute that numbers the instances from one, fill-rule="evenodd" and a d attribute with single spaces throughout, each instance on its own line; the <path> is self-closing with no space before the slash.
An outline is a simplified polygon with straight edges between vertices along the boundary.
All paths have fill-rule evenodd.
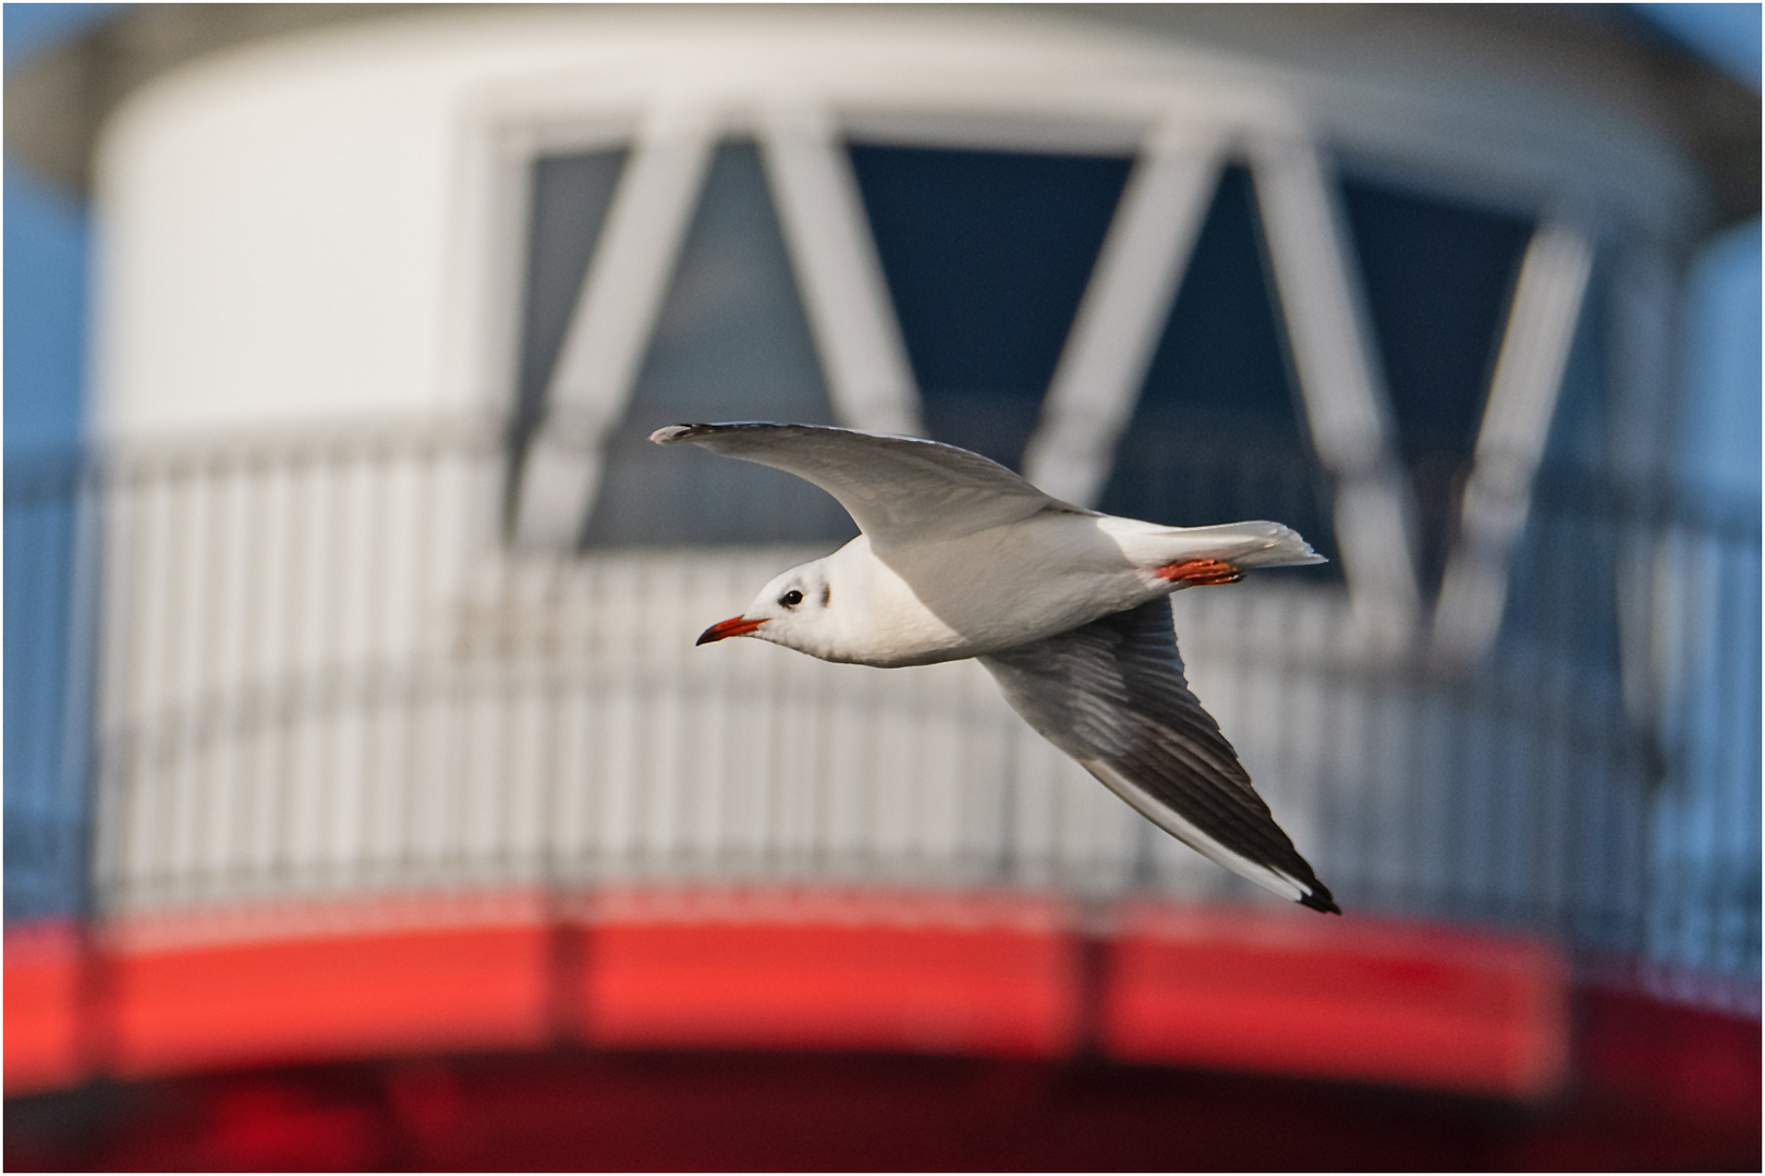
<path id="1" fill-rule="evenodd" d="M 657 444 L 690 441 L 812 481 L 872 543 L 948 538 L 1018 522 L 1045 510 L 1094 511 L 1052 499 L 1010 469 L 920 437 L 884 437 L 824 425 L 669 425 Z"/>

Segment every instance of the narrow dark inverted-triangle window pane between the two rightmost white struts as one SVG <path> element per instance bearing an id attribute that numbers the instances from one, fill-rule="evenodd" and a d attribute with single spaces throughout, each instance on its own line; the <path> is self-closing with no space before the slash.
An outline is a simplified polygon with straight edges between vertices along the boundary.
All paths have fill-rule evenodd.
<path id="1" fill-rule="evenodd" d="M 1431 594 L 1532 220 L 1356 180 L 1343 183 L 1343 206 L 1416 494 L 1423 591 Z"/>

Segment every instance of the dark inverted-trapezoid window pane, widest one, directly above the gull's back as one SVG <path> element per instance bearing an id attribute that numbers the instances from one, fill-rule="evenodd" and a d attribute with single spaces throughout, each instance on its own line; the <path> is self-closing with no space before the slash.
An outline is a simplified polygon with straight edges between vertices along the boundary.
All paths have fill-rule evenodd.
<path id="1" fill-rule="evenodd" d="M 1131 160 L 851 148 L 927 432 L 1013 469 Z"/>

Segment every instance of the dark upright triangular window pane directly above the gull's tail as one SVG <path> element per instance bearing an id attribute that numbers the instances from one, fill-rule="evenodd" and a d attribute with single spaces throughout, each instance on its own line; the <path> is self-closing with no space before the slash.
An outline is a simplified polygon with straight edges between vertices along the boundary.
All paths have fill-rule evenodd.
<path id="1" fill-rule="evenodd" d="M 1329 488 L 1311 455 L 1262 261 L 1244 167 L 1227 167 L 1202 222 L 1101 510 L 1172 525 L 1274 518 L 1333 562 Z"/>

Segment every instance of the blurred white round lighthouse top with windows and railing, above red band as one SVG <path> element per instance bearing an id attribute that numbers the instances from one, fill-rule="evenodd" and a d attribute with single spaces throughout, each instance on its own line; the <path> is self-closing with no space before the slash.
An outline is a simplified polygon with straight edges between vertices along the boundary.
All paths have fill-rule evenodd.
<path id="1" fill-rule="evenodd" d="M 1345 908 L 1756 1007 L 1758 504 L 1675 383 L 1744 86 L 1534 9 L 261 5 L 7 100 L 99 240 L 90 451 L 9 481 L 72 552 L 26 913 L 1267 913 L 973 665 L 692 649 L 852 527 L 644 437 L 792 420 L 1296 525 L 1175 621 Z"/>

